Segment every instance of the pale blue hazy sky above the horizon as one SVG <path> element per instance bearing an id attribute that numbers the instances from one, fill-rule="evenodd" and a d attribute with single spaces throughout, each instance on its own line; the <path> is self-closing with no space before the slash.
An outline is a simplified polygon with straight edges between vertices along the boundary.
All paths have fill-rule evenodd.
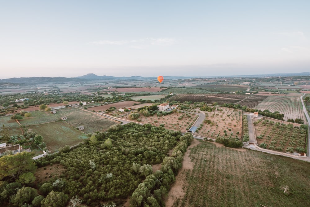
<path id="1" fill-rule="evenodd" d="M 309 0 L 0 5 L 0 79 L 310 71 Z"/>

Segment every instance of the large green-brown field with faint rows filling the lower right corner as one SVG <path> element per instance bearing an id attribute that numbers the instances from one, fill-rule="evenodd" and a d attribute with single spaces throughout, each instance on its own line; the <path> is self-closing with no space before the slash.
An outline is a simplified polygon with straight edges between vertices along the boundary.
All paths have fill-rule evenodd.
<path id="1" fill-rule="evenodd" d="M 201 142 L 184 170 L 185 195 L 173 206 L 309 206 L 310 163 Z M 278 173 L 278 177 L 276 176 Z M 277 178 L 276 178 L 277 177 Z M 182 182 L 181 182 L 182 183 Z M 280 188 L 289 187 L 289 194 Z"/>

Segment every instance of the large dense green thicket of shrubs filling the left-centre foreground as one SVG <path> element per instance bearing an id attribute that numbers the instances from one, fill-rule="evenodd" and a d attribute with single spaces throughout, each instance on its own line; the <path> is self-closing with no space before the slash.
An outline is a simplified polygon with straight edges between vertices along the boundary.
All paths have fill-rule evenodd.
<path id="1" fill-rule="evenodd" d="M 173 173 L 181 166 L 181 154 L 191 139 L 191 135 L 181 136 L 180 132 L 150 124 L 112 126 L 108 133 L 93 134 L 86 144 L 72 151 L 64 148 L 58 154 L 37 161 L 39 167 L 53 163 L 66 169 L 59 178 L 40 183 L 39 192 L 47 195 L 53 190 L 69 198 L 78 196 L 87 205 L 98 204 L 100 200 L 126 199 L 142 180 L 153 173 L 151 165 L 162 163 L 166 167 L 156 176 L 164 176 L 160 179 L 166 190 L 161 189 L 160 192 L 166 193 L 171 183 L 167 173 L 172 179 Z M 172 156 L 168 158 L 168 151 L 174 147 Z M 55 185 L 55 182 L 62 184 Z M 159 197 L 157 199 L 160 200 Z"/>

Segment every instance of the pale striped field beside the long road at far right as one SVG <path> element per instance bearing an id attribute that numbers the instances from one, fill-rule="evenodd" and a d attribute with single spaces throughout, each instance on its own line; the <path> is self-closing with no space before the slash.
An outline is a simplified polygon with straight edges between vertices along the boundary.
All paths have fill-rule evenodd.
<path id="1" fill-rule="evenodd" d="M 278 111 L 284 114 L 284 120 L 298 118 L 306 121 L 299 96 L 268 96 L 256 105 L 255 109 L 261 111 L 268 109 L 270 112 Z"/>

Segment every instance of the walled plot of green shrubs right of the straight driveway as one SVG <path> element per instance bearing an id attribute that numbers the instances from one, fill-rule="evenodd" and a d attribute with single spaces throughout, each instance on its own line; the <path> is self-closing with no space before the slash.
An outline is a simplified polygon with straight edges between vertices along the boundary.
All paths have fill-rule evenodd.
<path id="1" fill-rule="evenodd" d="M 254 123 L 257 143 L 260 147 L 280 152 L 303 152 L 307 130 L 294 128 L 293 124 L 259 120 Z"/>

